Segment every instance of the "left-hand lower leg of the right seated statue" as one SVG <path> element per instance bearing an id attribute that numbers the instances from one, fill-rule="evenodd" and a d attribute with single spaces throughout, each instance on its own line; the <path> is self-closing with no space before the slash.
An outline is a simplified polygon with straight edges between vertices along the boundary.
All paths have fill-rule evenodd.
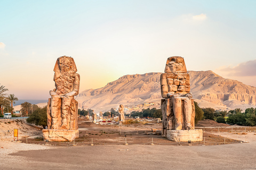
<path id="1" fill-rule="evenodd" d="M 179 97 L 172 97 L 172 103 L 173 103 L 173 114 L 175 118 L 175 130 L 181 130 L 182 129 L 182 123 L 181 123 L 181 98 Z"/>

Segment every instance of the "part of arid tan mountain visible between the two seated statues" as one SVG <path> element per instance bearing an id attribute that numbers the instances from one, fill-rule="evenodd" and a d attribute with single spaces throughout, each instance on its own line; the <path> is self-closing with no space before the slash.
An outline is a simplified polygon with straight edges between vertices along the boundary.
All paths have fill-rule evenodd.
<path id="1" fill-rule="evenodd" d="M 117 108 L 119 104 L 138 105 L 148 101 L 160 103 L 161 73 L 124 75 L 99 89 L 80 92 L 76 97 L 79 107 L 92 108 L 95 112 Z M 158 106 L 159 107 L 159 106 Z"/>

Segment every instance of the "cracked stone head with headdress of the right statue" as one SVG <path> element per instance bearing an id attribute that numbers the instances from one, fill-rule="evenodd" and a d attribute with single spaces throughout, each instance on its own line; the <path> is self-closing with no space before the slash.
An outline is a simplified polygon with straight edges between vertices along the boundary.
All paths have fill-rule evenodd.
<path id="1" fill-rule="evenodd" d="M 187 73 L 187 68 L 184 62 L 184 58 L 180 56 L 173 56 L 173 57 L 167 58 L 164 72 L 165 73 L 171 73 L 171 72 Z"/>

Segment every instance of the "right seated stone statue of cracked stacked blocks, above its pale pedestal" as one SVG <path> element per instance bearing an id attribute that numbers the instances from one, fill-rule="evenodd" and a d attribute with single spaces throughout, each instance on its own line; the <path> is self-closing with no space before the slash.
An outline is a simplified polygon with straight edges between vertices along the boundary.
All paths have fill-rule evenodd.
<path id="1" fill-rule="evenodd" d="M 166 137 L 167 132 L 171 132 L 169 130 L 177 130 L 177 133 L 179 130 L 194 130 L 195 105 L 189 92 L 189 74 L 184 59 L 179 56 L 169 57 L 164 72 L 161 74 L 161 94 L 164 98 L 161 100 L 162 135 Z"/>

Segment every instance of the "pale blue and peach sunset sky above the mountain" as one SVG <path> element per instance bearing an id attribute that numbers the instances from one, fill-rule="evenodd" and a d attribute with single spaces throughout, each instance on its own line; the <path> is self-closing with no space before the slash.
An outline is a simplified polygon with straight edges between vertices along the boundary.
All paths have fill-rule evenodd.
<path id="1" fill-rule="evenodd" d="M 0 0 L 0 83 L 20 99 L 47 99 L 63 55 L 74 58 L 81 91 L 126 74 L 163 72 L 167 57 L 182 56 L 187 70 L 212 70 L 256 86 L 255 6 Z"/>

